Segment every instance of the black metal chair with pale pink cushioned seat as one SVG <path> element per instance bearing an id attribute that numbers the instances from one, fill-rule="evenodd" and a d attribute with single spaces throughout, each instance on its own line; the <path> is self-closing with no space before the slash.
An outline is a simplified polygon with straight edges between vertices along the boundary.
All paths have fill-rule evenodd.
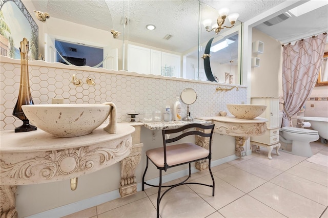
<path id="1" fill-rule="evenodd" d="M 194 129 L 195 128 L 195 129 Z M 198 123 L 187 124 L 180 128 L 176 129 L 163 129 L 162 137 L 163 137 L 163 146 L 150 149 L 146 151 L 147 156 L 147 164 L 144 172 L 144 176 L 142 176 L 142 191 L 145 190 L 145 185 L 149 185 L 152 187 L 158 187 L 158 195 L 157 195 L 157 218 L 159 217 L 159 203 L 162 200 L 163 196 L 172 188 L 177 187 L 179 185 L 185 184 L 197 184 L 197 185 L 205 185 L 212 187 L 212 195 L 214 196 L 214 177 L 211 171 L 211 151 L 212 151 L 212 135 L 213 135 L 214 124 L 211 125 L 202 125 Z M 177 134 L 178 136 L 174 136 L 169 139 L 169 134 Z M 190 135 L 198 135 L 200 137 L 209 138 L 209 149 L 201 147 L 200 145 L 196 145 L 194 143 L 179 143 L 173 145 L 167 145 L 168 143 L 176 142 L 182 138 L 185 138 Z M 168 136 L 168 137 L 167 137 Z M 201 143 L 202 145 L 202 143 Z M 212 177 L 212 184 L 203 184 L 196 182 L 187 182 L 191 177 L 191 163 L 199 160 L 209 159 L 209 171 Z M 159 184 L 152 185 L 145 182 L 145 175 L 148 169 L 149 160 L 159 169 Z M 189 177 L 177 184 L 174 185 L 162 185 L 162 170 L 167 171 L 167 169 L 175 166 L 180 166 L 183 164 L 189 164 Z M 160 193 L 162 187 L 169 187 L 163 194 Z"/>

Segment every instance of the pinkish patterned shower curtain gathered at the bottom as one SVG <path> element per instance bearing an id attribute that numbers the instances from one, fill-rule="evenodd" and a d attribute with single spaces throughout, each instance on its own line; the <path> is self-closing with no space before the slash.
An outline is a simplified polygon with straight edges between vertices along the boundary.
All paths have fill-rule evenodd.
<path id="1" fill-rule="evenodd" d="M 292 116 L 300 111 L 318 79 L 327 33 L 283 46 L 282 127 L 293 126 Z"/>

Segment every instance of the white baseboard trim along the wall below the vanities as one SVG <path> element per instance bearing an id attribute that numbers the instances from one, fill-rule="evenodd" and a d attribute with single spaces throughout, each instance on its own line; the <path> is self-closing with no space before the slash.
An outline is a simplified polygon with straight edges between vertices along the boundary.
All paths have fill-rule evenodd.
<path id="1" fill-rule="evenodd" d="M 233 161 L 233 160 L 236 160 L 238 158 L 239 157 L 236 157 L 235 155 L 224 157 L 224 158 L 212 161 L 211 166 L 212 167 L 218 166 L 220 164 L 227 163 L 229 161 Z M 191 168 L 191 173 L 195 173 L 195 172 L 198 172 L 198 171 L 199 170 L 197 170 L 195 167 Z M 173 173 L 170 173 L 168 175 L 163 176 L 162 182 L 163 183 L 170 182 L 172 180 L 176 180 L 176 179 L 179 179 L 181 177 L 187 176 L 188 174 L 189 174 L 189 169 L 173 172 Z M 151 179 L 151 180 L 147 180 L 147 183 L 149 183 L 149 184 L 156 184 L 157 182 L 158 182 L 158 177 L 154 178 L 154 179 Z M 140 183 L 137 184 L 137 191 L 141 191 L 141 190 L 142 190 L 142 183 L 140 182 Z M 67 204 L 67 205 L 64 205 L 64 206 L 60 206 L 60 207 L 57 207 L 57 208 L 54 208 L 54 209 L 51 209 L 51 210 L 47 210 L 47 211 L 44 211 L 44 212 L 41 212 L 41 213 L 37 213 L 37 214 L 31 215 L 31 216 L 27 216 L 27 218 L 43 218 L 43 217 L 56 218 L 56 217 L 62 217 L 62 216 L 66 216 L 66 215 L 69 215 L 69 214 L 72 214 L 72 213 L 75 213 L 75 212 L 78 212 L 78 211 L 81 211 L 81 210 L 88 209 L 90 207 L 94 207 L 94 206 L 97 206 L 97 205 L 100 205 L 100 204 L 104 204 L 108 201 L 112 201 L 112 200 L 115 200 L 115 199 L 118 199 L 118 198 L 120 198 L 119 190 L 116 189 L 116 190 L 113 190 L 113 191 L 110 191 L 110 192 L 107 192 L 107 193 L 99 194 L 99 195 L 97 195 L 95 197 L 92 197 L 92 198 L 89 198 L 89 199 L 77 201 L 77 202 Z"/>

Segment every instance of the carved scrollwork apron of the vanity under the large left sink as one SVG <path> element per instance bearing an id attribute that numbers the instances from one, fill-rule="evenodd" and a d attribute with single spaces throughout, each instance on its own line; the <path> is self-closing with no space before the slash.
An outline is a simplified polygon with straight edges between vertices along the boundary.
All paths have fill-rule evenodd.
<path id="1" fill-rule="evenodd" d="M 34 168 L 41 168 L 38 170 L 39 177 L 45 180 L 59 175 L 87 171 L 94 167 L 95 160 L 99 160 L 99 165 L 103 165 L 112 158 L 124 156 L 130 149 L 130 143 L 129 140 L 120 142 L 115 148 L 78 147 L 46 151 L 45 157 L 35 157 L 14 164 L 1 161 L 1 178 L 28 180 L 33 176 Z"/>

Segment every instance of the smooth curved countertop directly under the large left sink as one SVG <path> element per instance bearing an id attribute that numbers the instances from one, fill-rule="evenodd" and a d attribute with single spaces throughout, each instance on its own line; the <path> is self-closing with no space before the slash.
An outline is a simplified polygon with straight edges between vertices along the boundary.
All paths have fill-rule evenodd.
<path id="1" fill-rule="evenodd" d="M 57 138 L 41 129 L 27 133 L 14 130 L 1 131 L 1 152 L 35 152 L 52 149 L 67 149 L 108 142 L 132 134 L 135 128 L 130 123 L 117 123 L 117 133 L 109 134 L 104 130 L 108 124 L 101 124 L 91 134 L 78 137 Z"/>

